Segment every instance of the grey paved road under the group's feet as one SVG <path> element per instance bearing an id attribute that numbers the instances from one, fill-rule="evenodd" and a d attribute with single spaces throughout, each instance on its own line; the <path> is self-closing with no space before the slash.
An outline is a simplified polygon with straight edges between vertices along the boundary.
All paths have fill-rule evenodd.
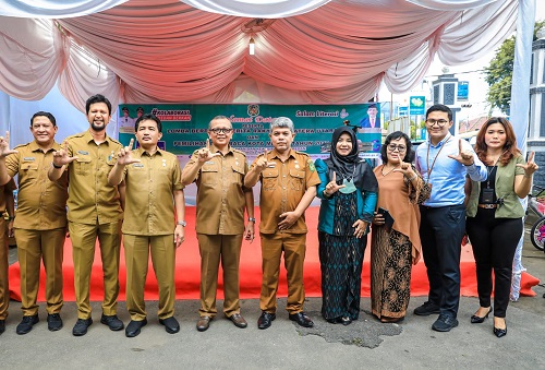
<path id="1" fill-rule="evenodd" d="M 545 253 L 526 243 L 523 255 L 529 273 L 545 282 Z M 247 329 L 218 317 L 207 332 L 199 333 L 195 329 L 198 302 L 184 300 L 175 306 L 181 331 L 170 335 L 157 322 L 157 303 L 148 302 L 149 323 L 135 338 L 100 324 L 97 302 L 93 303 L 95 323 L 83 337 L 71 334 L 76 320 L 73 302 L 64 306 L 61 331 L 48 332 L 41 307 L 41 321 L 20 336 L 15 334 L 20 305 L 12 302 L 7 332 L 0 336 L 0 358 L 4 369 L 545 369 L 545 288 L 540 285 L 534 290 L 536 297 L 521 297 L 509 306 L 508 335 L 502 338 L 493 335 L 491 319 L 470 323 L 479 306 L 470 297 L 461 299 L 460 325 L 450 333 L 431 330 L 435 317 L 412 313 L 399 325 L 379 323 L 368 313 L 368 298 L 362 299 L 359 321 L 331 325 L 319 317 L 319 298 L 311 298 L 306 310 L 316 324 L 312 330 L 296 326 L 279 310 L 272 326 L 259 331 L 257 300 L 244 300 Z M 424 300 L 413 297 L 411 312 Z M 284 305 L 280 299 L 279 307 Z M 119 312 L 129 322 L 124 302 Z"/>

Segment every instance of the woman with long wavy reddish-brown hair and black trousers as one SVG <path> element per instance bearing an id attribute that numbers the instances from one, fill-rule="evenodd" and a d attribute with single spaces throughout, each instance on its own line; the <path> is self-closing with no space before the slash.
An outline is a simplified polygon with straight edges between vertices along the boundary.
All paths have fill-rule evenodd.
<path id="1" fill-rule="evenodd" d="M 493 117 L 481 127 L 475 153 L 486 165 L 488 178 L 471 182 L 467 210 L 465 230 L 475 258 L 480 302 L 471 323 L 483 323 L 494 311 L 493 333 L 502 337 L 507 335 L 512 261 L 523 230 L 524 210 L 519 198 L 525 198 L 532 189 L 532 178 L 538 167 L 533 153 L 524 163 L 512 126 L 502 117 Z M 493 283 L 494 309 L 491 306 Z"/>

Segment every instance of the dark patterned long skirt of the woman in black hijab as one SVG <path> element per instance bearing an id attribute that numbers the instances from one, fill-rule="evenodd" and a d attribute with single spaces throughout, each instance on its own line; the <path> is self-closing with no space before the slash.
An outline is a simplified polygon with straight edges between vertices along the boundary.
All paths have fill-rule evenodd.
<path id="1" fill-rule="evenodd" d="M 322 315 L 326 320 L 360 315 L 363 254 L 367 238 L 318 232 Z"/>

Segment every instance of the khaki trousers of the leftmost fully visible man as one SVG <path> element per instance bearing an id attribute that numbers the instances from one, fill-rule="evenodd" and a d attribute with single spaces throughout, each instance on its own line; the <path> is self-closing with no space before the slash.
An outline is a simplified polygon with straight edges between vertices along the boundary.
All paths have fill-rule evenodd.
<path id="1" fill-rule="evenodd" d="M 62 299 L 62 258 L 66 229 L 26 230 L 15 229 L 19 264 L 21 266 L 21 309 L 23 315 L 38 313 L 36 303 L 39 288 L 40 262 L 46 270 L 46 310 L 59 313 Z"/>

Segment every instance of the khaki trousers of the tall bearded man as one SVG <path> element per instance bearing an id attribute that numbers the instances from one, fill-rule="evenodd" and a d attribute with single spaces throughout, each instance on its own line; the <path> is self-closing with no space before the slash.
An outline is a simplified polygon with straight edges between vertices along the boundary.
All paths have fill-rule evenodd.
<path id="1" fill-rule="evenodd" d="M 74 289 L 77 318 L 90 318 L 89 285 L 98 237 L 104 274 L 102 313 L 117 313 L 119 295 L 119 252 L 121 223 L 87 225 L 69 222 L 72 255 L 74 259 Z"/>

